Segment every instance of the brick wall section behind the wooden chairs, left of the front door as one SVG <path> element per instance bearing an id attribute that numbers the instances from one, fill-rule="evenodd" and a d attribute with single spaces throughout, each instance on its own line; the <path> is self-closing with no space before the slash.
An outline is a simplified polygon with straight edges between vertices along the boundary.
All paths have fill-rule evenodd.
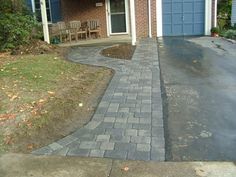
<path id="1" fill-rule="evenodd" d="M 94 0 L 61 0 L 62 18 L 68 22 L 89 19 L 99 19 L 101 26 L 101 37 L 107 37 L 106 7 L 105 0 L 100 0 L 102 7 L 96 7 Z"/>

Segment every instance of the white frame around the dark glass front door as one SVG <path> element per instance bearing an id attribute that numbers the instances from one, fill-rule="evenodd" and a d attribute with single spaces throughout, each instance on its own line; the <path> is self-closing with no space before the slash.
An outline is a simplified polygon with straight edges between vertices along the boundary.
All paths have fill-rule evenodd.
<path id="1" fill-rule="evenodd" d="M 124 2 L 125 2 L 125 23 L 126 23 L 125 25 L 126 25 L 126 32 L 112 33 L 110 0 L 106 0 L 106 6 L 107 6 L 107 13 L 106 13 L 107 14 L 107 33 L 108 33 L 108 36 L 118 35 L 118 34 L 129 34 L 129 15 L 128 15 L 129 14 L 129 3 L 128 3 L 128 0 L 124 0 Z"/>

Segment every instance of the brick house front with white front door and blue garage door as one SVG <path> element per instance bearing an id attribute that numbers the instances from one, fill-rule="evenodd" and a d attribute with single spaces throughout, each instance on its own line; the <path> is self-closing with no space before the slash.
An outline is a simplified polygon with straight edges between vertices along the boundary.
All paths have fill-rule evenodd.
<path id="1" fill-rule="evenodd" d="M 40 0 L 27 0 L 40 11 Z M 208 35 L 217 0 L 46 0 L 49 23 L 99 19 L 102 37 Z"/>

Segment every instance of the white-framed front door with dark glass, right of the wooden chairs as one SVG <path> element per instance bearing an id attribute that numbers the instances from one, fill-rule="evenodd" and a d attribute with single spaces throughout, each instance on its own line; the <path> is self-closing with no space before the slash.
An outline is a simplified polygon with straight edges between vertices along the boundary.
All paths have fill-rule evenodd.
<path id="1" fill-rule="evenodd" d="M 110 34 L 127 33 L 127 0 L 109 0 Z"/>

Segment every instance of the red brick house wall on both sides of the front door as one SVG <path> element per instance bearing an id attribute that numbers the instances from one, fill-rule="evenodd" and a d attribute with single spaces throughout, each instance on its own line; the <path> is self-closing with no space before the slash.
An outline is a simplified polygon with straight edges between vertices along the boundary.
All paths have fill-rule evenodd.
<path id="1" fill-rule="evenodd" d="M 61 0 L 62 18 L 68 22 L 89 19 L 99 19 L 101 23 L 102 37 L 107 37 L 106 7 L 105 0 L 102 7 L 96 7 L 94 0 Z M 152 32 L 156 35 L 156 0 L 152 0 Z M 136 0 L 136 30 L 137 38 L 148 36 L 148 6 L 146 0 Z M 130 17 L 130 15 L 129 15 Z M 130 19 L 130 18 L 129 18 Z M 129 24 L 130 25 L 130 24 Z M 130 29 L 130 28 L 129 28 Z M 130 31 L 128 31 L 130 33 Z"/>

